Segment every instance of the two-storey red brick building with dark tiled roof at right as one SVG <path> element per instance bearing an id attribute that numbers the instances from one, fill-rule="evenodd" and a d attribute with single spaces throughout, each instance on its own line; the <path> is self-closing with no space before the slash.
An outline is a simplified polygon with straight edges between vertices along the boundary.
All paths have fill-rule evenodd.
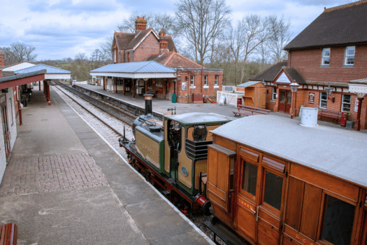
<path id="1" fill-rule="evenodd" d="M 348 113 L 348 120 L 367 129 L 367 0 L 325 8 L 285 46 L 288 60 L 274 64 L 250 80 L 267 86 L 266 107 L 291 114 L 289 84 L 299 84 L 295 115 L 300 107 Z M 326 94 L 326 88 L 333 92 Z M 358 104 L 361 106 L 360 120 Z"/>

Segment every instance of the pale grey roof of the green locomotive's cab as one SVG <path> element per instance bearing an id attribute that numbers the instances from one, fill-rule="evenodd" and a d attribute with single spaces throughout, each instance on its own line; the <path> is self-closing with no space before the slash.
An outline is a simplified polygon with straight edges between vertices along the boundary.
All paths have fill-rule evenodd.
<path id="1" fill-rule="evenodd" d="M 204 123 L 226 123 L 233 118 L 222 116 L 216 113 L 185 113 L 181 115 L 169 115 L 164 116 L 165 118 L 175 120 L 176 122 L 185 124 L 185 125 L 196 125 L 196 124 L 204 124 Z"/>

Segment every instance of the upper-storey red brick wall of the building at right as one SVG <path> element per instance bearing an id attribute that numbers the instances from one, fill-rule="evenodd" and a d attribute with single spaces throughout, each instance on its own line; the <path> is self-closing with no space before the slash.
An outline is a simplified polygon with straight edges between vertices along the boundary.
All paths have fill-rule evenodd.
<path id="1" fill-rule="evenodd" d="M 309 81 L 347 83 L 350 80 L 367 78 L 367 45 L 355 45 L 353 67 L 343 67 L 345 47 L 330 48 L 328 67 L 320 67 L 322 48 L 292 51 L 290 66 L 296 67 L 305 80 Z"/>

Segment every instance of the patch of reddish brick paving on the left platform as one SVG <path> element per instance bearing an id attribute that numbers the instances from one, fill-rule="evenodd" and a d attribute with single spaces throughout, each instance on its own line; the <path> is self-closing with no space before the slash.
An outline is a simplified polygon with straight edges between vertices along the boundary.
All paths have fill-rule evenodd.
<path id="1" fill-rule="evenodd" d="M 15 158 L 6 167 L 0 197 L 92 186 L 108 186 L 108 181 L 88 154 Z"/>

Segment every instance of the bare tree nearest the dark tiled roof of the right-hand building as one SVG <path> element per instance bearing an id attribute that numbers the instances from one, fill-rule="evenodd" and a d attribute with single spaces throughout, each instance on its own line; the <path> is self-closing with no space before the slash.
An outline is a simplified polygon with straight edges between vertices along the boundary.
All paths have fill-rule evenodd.
<path id="1" fill-rule="evenodd" d="M 286 22 L 284 15 L 280 18 L 276 15 L 271 15 L 268 18 L 268 31 L 270 32 L 268 50 L 271 52 L 271 58 L 274 62 L 286 59 L 287 53 L 283 48 L 292 37 L 291 22 Z"/>

